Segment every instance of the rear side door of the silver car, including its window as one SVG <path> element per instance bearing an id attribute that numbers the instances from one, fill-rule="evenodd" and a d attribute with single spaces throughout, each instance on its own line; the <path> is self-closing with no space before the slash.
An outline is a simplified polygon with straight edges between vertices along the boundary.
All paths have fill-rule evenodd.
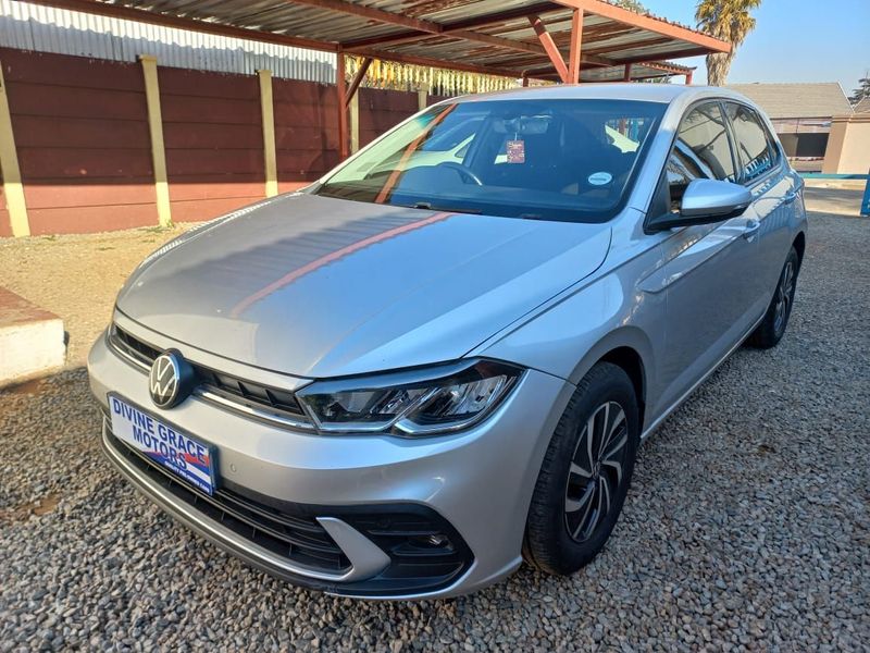
<path id="1" fill-rule="evenodd" d="M 776 140 L 751 107 L 726 101 L 725 116 L 733 134 L 738 181 L 753 194 L 744 214 L 758 222 L 759 255 L 749 278 L 755 283 L 754 312 L 767 309 L 792 244 L 790 224 L 800 190 L 800 178 L 785 163 Z"/>

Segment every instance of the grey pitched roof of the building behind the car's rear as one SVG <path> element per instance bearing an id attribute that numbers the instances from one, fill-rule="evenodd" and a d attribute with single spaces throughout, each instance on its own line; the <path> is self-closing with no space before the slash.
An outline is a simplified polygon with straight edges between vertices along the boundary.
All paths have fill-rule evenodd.
<path id="1" fill-rule="evenodd" d="M 853 112 L 846 94 L 836 82 L 806 84 L 729 84 L 745 95 L 771 119 L 831 118 Z"/>

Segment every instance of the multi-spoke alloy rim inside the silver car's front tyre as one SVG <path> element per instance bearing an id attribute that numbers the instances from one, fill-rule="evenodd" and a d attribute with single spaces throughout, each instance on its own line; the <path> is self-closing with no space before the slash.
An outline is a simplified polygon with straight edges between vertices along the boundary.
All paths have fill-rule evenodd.
<path id="1" fill-rule="evenodd" d="M 600 405 L 583 426 L 564 492 L 564 523 L 574 541 L 592 538 L 610 512 L 624 479 L 627 443 L 625 410 L 616 402 Z"/>

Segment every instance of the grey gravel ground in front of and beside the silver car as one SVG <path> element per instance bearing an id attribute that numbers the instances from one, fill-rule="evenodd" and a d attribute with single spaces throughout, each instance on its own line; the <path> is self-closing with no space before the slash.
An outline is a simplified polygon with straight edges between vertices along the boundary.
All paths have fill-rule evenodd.
<path id="1" fill-rule="evenodd" d="M 0 393 L 0 651 L 868 650 L 870 221 L 810 227 L 783 342 L 737 352 L 642 447 L 569 579 L 417 604 L 296 589 L 122 482 L 83 370 Z"/>

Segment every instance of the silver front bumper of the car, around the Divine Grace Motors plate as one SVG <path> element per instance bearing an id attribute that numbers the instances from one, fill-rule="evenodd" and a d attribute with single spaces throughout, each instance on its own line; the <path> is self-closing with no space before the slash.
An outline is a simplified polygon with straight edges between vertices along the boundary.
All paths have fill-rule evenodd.
<path id="1" fill-rule="evenodd" d="M 147 332 L 140 335 L 148 337 Z M 195 350 L 178 348 L 196 359 Z M 467 593 L 520 565 L 540 460 L 573 390 L 561 379 L 530 370 L 496 412 L 475 428 L 407 440 L 293 431 L 196 396 L 171 410 L 158 409 L 148 396 L 146 374 L 110 350 L 102 337 L 91 349 L 88 371 L 91 391 L 105 410 L 108 393 L 115 392 L 215 445 L 220 486 L 285 513 L 288 506 L 298 508 L 326 531 L 344 557 L 331 565 L 300 563 L 240 534 L 244 528 L 228 528 L 225 516 L 203 503 L 204 495 L 196 496 L 179 481 L 170 488 L 163 472 L 154 476 L 147 465 L 137 465 L 136 455 L 114 439 L 104 420 L 102 443 L 109 459 L 163 509 L 275 576 L 331 593 L 383 599 Z M 434 576 L 425 565 L 417 577 L 407 569 L 397 574 L 395 549 L 388 545 L 395 539 L 384 539 L 384 529 L 372 527 L 385 523 L 378 516 L 385 516 L 390 528 L 405 523 L 408 530 L 410 519 L 423 529 L 418 534 L 446 535 L 455 566 L 442 566 Z M 407 546 L 402 551 L 407 553 Z"/>

